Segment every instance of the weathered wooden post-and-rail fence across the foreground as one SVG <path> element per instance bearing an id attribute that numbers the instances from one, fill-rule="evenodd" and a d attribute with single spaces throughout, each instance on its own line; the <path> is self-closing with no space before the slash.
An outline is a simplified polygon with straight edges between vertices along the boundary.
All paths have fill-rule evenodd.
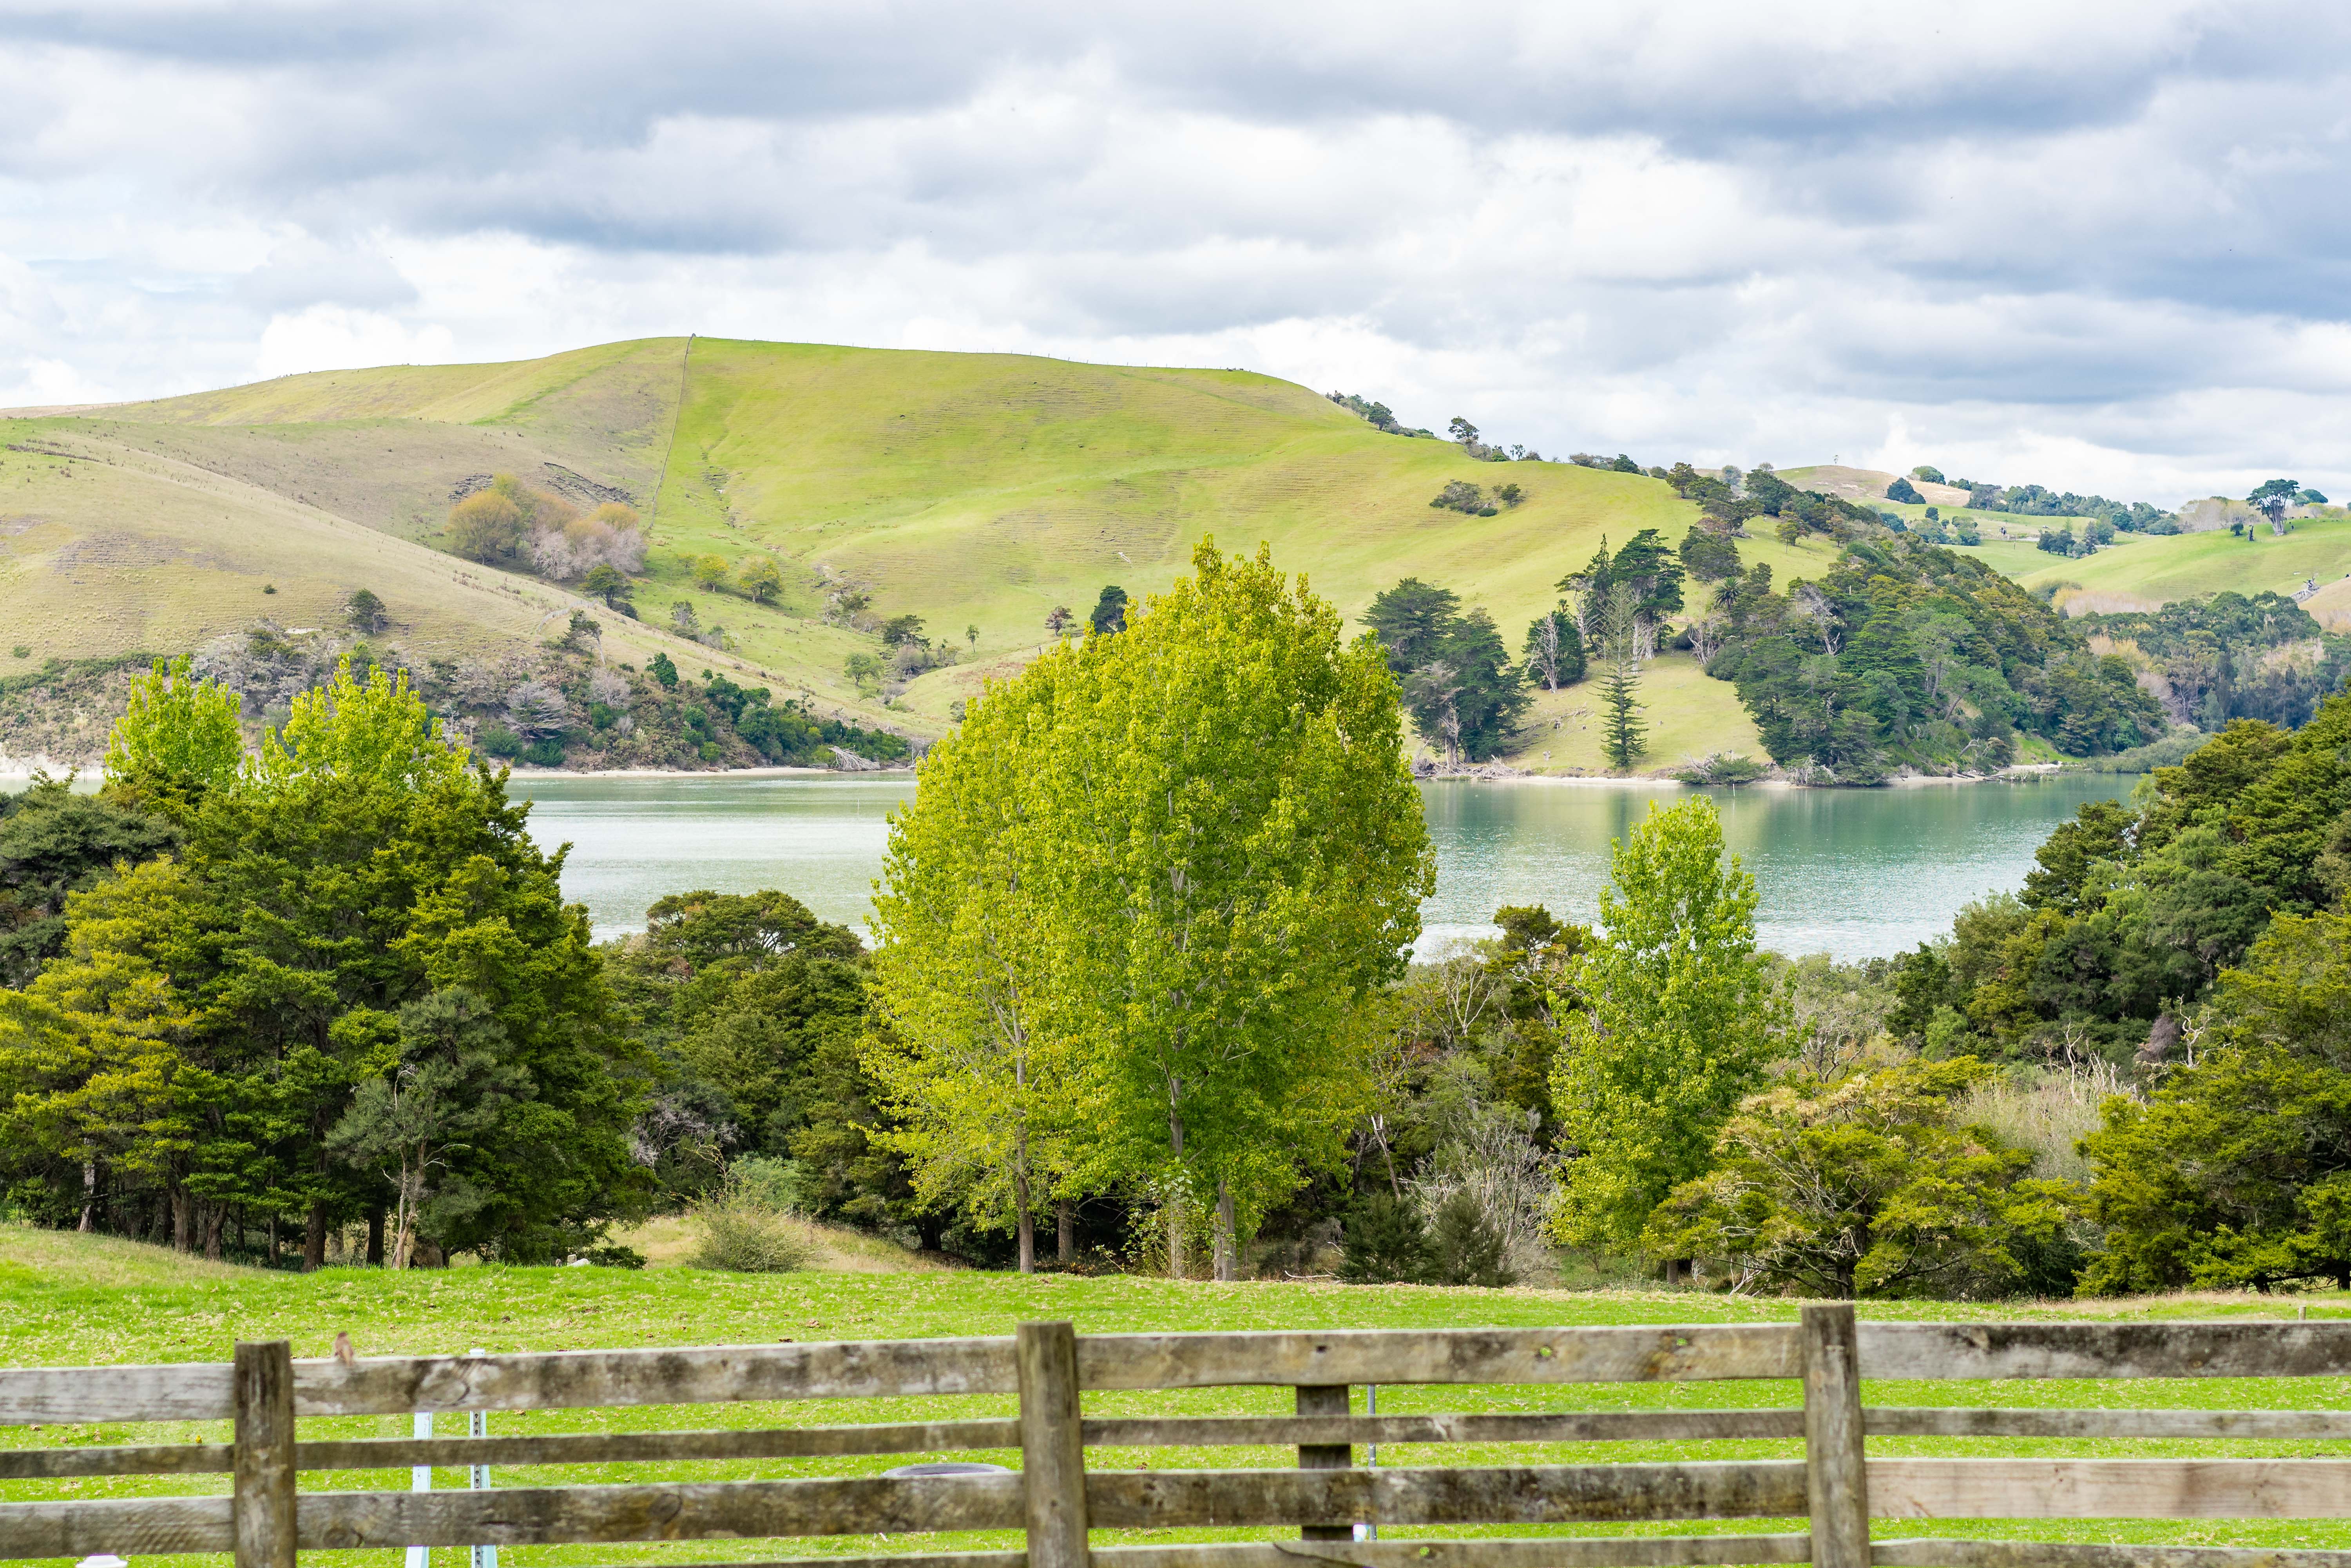
<path id="1" fill-rule="evenodd" d="M 1025 1549 L 797 1559 L 853 1568 L 2351 1568 L 2351 1552 L 1869 1540 L 1869 1519 L 2344 1519 L 2351 1460 L 1878 1458 L 1864 1436 L 2351 1439 L 2335 1410 L 1864 1408 L 1860 1380 L 2351 1373 L 2351 1324 L 1799 1324 L 1077 1335 L 513 1356 L 0 1371 L 0 1425 L 233 1420 L 230 1443 L 0 1450 L 0 1479 L 228 1474 L 228 1495 L 0 1505 L 0 1559 L 1023 1530 Z M 1789 1378 L 1803 1408 L 1352 1415 L 1352 1385 Z M 1293 1387 L 1295 1415 L 1084 1418 L 1089 1389 Z M 1018 1394 L 1011 1420 L 729 1432 L 301 1439 L 301 1418 L 781 1399 Z M 1359 1469 L 1357 1443 L 1803 1439 L 1803 1460 Z M 1086 1469 L 1086 1448 L 1295 1446 L 1298 1469 Z M 1018 1474 L 301 1493 L 303 1472 L 607 1465 L 1011 1448 Z M 1810 1519 L 1808 1533 L 1352 1540 L 1354 1523 L 1578 1526 Z M 1298 1540 L 1089 1547 L 1089 1530 Z"/>

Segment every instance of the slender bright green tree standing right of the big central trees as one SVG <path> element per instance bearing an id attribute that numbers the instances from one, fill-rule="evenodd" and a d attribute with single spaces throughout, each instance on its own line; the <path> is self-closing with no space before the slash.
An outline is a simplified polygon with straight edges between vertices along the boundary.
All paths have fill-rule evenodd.
<path id="1" fill-rule="evenodd" d="M 1667 1192 L 1712 1161 L 1714 1138 L 1773 1056 L 1784 1001 L 1754 945 L 1756 884 L 1723 863 L 1714 804 L 1650 806 L 1615 846 L 1603 936 L 1573 964 L 1552 1067 L 1559 1208 L 1573 1246 L 1632 1248 Z"/>

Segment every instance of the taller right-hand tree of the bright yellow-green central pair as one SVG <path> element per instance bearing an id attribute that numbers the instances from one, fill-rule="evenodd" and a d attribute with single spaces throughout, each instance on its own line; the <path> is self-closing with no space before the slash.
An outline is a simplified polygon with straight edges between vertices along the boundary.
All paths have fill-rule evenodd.
<path id="1" fill-rule="evenodd" d="M 1004 837 L 1046 922 L 1039 1030 L 1084 1041 L 1072 1159 L 1089 1185 L 1157 1194 L 1178 1272 L 1185 1215 L 1213 1194 L 1230 1279 L 1265 1206 L 1340 1159 L 1366 1081 L 1361 1016 L 1401 971 L 1429 858 L 1378 646 L 1342 644 L 1331 607 L 1262 550 L 1201 543 L 1192 559 L 1124 635 L 1046 654 L 973 703 L 924 776 L 1025 780 L 1032 825 Z M 997 703 L 1006 719 L 985 722 Z M 889 905 L 926 886 L 933 811 L 962 865 L 1004 830 L 983 792 L 924 785 L 891 830 L 877 900 L 891 945 L 898 919 L 947 929 Z M 940 907 L 962 907 L 999 882 L 947 886 Z"/>

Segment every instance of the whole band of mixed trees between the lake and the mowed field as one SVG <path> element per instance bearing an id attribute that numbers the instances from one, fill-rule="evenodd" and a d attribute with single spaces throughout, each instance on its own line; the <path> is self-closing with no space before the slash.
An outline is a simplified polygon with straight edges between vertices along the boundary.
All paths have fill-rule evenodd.
<path id="1" fill-rule="evenodd" d="M 153 672 L 99 795 L 0 813 L 7 1201 L 310 1267 L 350 1227 L 386 1265 L 628 1262 L 616 1222 L 762 1171 L 1016 1267 L 2351 1274 L 2351 696 L 2085 806 L 1902 959 L 1761 952 L 1690 799 L 1615 846 L 1596 926 L 1500 910 L 1415 964 L 1389 649 L 1262 552 L 1128 609 L 926 759 L 875 950 L 710 891 L 592 945 L 397 675 L 341 670 L 247 752 L 233 693 Z"/>

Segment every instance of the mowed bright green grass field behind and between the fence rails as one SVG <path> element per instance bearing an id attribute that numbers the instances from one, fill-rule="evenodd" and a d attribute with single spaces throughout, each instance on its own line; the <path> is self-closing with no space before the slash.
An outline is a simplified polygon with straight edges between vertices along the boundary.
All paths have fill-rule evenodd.
<path id="1" fill-rule="evenodd" d="M 1451 1291 L 1420 1286 L 1335 1284 L 1180 1284 L 1166 1279 L 1077 1279 L 924 1269 L 907 1274 L 806 1272 L 783 1276 L 705 1274 L 679 1267 L 611 1269 L 496 1269 L 386 1274 L 324 1269 L 313 1276 L 261 1274 L 181 1260 L 127 1241 L 0 1229 L 0 1363 L 61 1366 L 110 1361 L 219 1361 L 235 1340 L 287 1338 L 296 1356 L 322 1356 L 336 1331 L 348 1331 L 360 1354 L 444 1354 L 473 1347 L 590 1349 L 778 1340 L 868 1340 L 1006 1335 L 1030 1319 L 1067 1319 L 1079 1333 L 1213 1331 L 1213 1328 L 1448 1328 L 1559 1324 L 1719 1324 L 1787 1321 L 1787 1300 L 1733 1300 L 1683 1293 L 1559 1293 Z M 2339 1295 L 2302 1298 L 2313 1316 L 2351 1316 Z M 2137 1302 L 2052 1305 L 1864 1305 L 1876 1319 L 2189 1319 L 2280 1316 L 2280 1302 L 2259 1298 L 2163 1298 Z M 2346 1368 L 2351 1371 L 2351 1368 Z M 2339 1408 L 2351 1378 L 2313 1380 L 2163 1380 L 2163 1382 L 1886 1382 L 1869 1385 L 1871 1403 L 2010 1403 L 2010 1406 L 2179 1406 L 2179 1408 Z M 1284 1413 L 1286 1389 L 1206 1389 L 1187 1394 L 1091 1394 L 1089 1413 Z M 1418 1410 L 1643 1410 L 1643 1408 L 1759 1408 L 1794 1406 L 1791 1382 L 1716 1385 L 1570 1385 L 1570 1387 L 1387 1387 L 1382 1413 Z M 1359 1406 L 1361 1408 L 1361 1399 Z M 884 1420 L 952 1420 L 1009 1415 L 1011 1399 L 879 1399 L 811 1401 L 795 1406 L 670 1406 L 642 1410 L 501 1413 L 491 1432 L 611 1432 L 762 1427 Z M 407 1418 L 306 1422 L 315 1436 L 404 1436 Z M 16 1446 L 125 1443 L 226 1439 L 221 1422 L 16 1429 Z M 2062 1443 L 2062 1441 L 1874 1441 L 1871 1453 L 1909 1455 L 2269 1455 L 2323 1458 L 2330 1443 Z M 1794 1458 L 1796 1443 L 1556 1443 L 1382 1448 L 1380 1465 L 1507 1465 L 1697 1458 Z M 978 1458 L 1018 1462 L 1009 1453 Z M 788 1479 L 875 1474 L 891 1458 L 759 1460 L 729 1465 L 501 1469 L 498 1486 L 611 1483 L 644 1479 Z M 1096 1450 L 1103 1469 L 1154 1467 L 1274 1467 L 1293 1465 L 1288 1450 Z M 456 1472 L 440 1486 L 461 1486 Z M 7 1500 L 167 1495 L 223 1490 L 214 1479 L 108 1479 L 0 1486 Z M 306 1476 L 310 1488 L 404 1488 L 404 1472 Z M 1639 1533 L 1749 1530 L 1749 1521 L 1639 1526 Z M 1801 1528 L 1794 1521 L 1763 1528 Z M 1396 1530 L 1392 1530 L 1396 1533 Z M 1404 1530 L 1411 1535 L 1413 1530 Z M 1434 1530 L 1425 1530 L 1434 1533 Z M 1568 1533 L 1568 1530 L 1563 1530 Z M 1578 1528 L 1573 1533 L 1606 1533 Z M 2041 1535 L 2130 1542 L 2233 1544 L 2351 1544 L 2351 1530 L 2320 1521 L 1900 1521 L 1881 1533 L 1911 1535 Z M 1173 1537 L 1232 1537 L 1246 1533 L 1185 1530 Z M 929 1537 L 943 1547 L 1016 1544 L 1006 1537 Z M 1143 1533 L 1103 1533 L 1100 1540 L 1143 1540 Z M 879 1542 L 832 1540 L 809 1549 L 858 1552 Z M 804 1547 L 788 1547 L 799 1552 Z M 907 1549 L 893 1542 L 893 1549 Z M 712 1561 L 771 1556 L 752 1542 L 675 1542 L 661 1547 L 545 1547 L 515 1549 L 517 1566 L 590 1561 Z M 317 1554 L 317 1561 L 339 1554 Z M 360 1554 L 353 1554 L 360 1561 Z"/>

